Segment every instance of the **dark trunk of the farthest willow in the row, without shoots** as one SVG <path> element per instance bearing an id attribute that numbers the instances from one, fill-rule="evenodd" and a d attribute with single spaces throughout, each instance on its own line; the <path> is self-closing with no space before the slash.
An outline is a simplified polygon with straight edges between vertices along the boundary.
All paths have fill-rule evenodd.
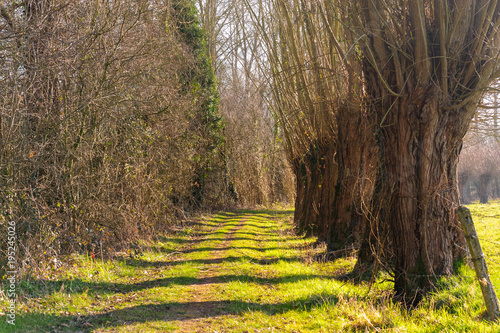
<path id="1" fill-rule="evenodd" d="M 337 166 L 332 143 L 311 144 L 309 152 L 295 159 L 296 199 L 294 222 L 299 234 L 326 241 L 333 215 Z"/>

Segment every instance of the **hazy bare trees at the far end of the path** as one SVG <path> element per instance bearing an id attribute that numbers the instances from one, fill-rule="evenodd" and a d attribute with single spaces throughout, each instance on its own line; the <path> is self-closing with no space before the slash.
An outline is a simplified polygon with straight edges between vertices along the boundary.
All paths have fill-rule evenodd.
<path id="1" fill-rule="evenodd" d="M 198 0 L 219 81 L 228 172 L 241 206 L 292 202 L 294 179 L 270 106 L 266 46 L 243 1 Z M 271 14 L 274 15 L 274 14 Z"/>

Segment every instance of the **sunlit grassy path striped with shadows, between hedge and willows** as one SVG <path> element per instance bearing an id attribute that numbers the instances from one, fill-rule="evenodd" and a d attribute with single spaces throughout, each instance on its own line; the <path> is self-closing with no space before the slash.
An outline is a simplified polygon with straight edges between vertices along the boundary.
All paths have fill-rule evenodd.
<path id="1" fill-rule="evenodd" d="M 83 257 L 26 285 L 17 326 L 0 332 L 316 332 L 287 313 L 309 316 L 335 282 L 305 260 L 314 239 L 294 236 L 291 216 L 223 212 L 140 253 Z"/>

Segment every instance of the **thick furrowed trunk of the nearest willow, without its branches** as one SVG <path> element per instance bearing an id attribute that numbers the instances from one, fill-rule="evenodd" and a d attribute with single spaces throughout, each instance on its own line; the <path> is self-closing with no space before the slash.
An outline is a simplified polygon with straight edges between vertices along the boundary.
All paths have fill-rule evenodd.
<path id="1" fill-rule="evenodd" d="M 381 223 L 391 230 L 395 290 L 412 304 L 436 277 L 453 272 L 466 248 L 456 207 L 458 155 L 468 123 L 456 111 L 442 112 L 429 93 L 400 98 L 388 125 L 379 128 L 383 186 L 375 206 L 386 207 Z"/>

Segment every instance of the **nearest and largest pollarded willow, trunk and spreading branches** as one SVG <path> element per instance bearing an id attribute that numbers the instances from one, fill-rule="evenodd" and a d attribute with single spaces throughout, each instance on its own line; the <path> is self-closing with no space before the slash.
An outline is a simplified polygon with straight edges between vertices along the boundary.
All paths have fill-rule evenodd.
<path id="1" fill-rule="evenodd" d="M 498 69 L 500 4 L 340 3 L 356 32 L 365 93 L 376 114 L 374 213 L 391 229 L 396 292 L 418 301 L 465 254 L 456 217 L 457 163 Z"/>

